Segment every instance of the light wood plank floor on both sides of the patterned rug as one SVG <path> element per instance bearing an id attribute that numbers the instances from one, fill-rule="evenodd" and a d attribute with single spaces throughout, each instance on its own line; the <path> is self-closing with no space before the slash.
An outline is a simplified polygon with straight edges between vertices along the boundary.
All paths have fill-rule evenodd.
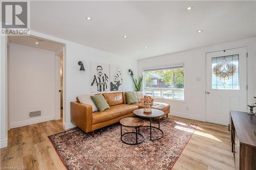
<path id="1" fill-rule="evenodd" d="M 173 169 L 234 169 L 227 127 L 168 116 L 198 127 Z M 62 120 L 8 131 L 8 147 L 1 149 L 1 168 L 66 169 L 47 136 L 65 131 Z"/>

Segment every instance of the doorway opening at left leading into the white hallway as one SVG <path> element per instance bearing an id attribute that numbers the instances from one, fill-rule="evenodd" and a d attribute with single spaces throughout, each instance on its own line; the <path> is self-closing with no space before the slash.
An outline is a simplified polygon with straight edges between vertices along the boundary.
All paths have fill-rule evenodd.
<path id="1" fill-rule="evenodd" d="M 49 120 L 62 124 L 64 52 L 59 42 L 8 37 L 8 129 Z"/>

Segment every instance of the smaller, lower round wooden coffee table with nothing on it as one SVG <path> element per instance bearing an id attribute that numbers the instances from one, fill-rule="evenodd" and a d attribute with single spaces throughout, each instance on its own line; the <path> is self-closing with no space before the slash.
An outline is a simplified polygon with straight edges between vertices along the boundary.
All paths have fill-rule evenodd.
<path id="1" fill-rule="evenodd" d="M 137 117 L 122 118 L 120 120 L 120 126 L 121 126 L 121 137 L 120 137 L 120 139 L 121 139 L 121 141 L 124 142 L 125 144 L 132 144 L 132 145 L 142 143 L 145 138 L 142 134 L 140 134 L 140 127 L 143 124 L 144 124 L 144 120 L 141 119 L 141 118 L 137 118 Z M 127 132 L 127 133 L 122 134 L 122 126 L 129 127 L 129 128 L 135 128 L 136 132 Z M 124 141 L 122 139 L 122 137 L 126 134 L 136 134 L 136 143 L 129 143 L 129 142 Z M 140 142 L 138 142 L 138 135 L 140 135 L 142 137 L 142 140 Z"/>

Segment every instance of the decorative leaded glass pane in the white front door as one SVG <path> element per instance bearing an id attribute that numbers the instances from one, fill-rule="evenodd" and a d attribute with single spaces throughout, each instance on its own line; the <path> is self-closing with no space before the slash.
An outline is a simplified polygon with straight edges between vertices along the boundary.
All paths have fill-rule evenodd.
<path id="1" fill-rule="evenodd" d="M 211 59 L 211 89 L 239 90 L 239 55 Z"/>

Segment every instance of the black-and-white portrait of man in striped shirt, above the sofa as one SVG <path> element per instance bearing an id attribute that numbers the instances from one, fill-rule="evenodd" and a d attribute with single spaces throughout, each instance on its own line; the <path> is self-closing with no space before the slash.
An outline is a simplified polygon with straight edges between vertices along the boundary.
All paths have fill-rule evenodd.
<path id="1" fill-rule="evenodd" d="M 103 92 L 110 89 L 109 64 L 91 62 L 91 92 Z"/>

